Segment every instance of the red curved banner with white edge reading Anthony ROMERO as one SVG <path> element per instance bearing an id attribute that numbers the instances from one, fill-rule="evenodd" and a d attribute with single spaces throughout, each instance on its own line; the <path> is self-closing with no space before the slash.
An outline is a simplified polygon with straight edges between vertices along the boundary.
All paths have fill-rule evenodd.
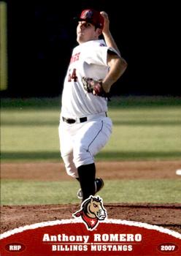
<path id="1" fill-rule="evenodd" d="M 42 222 L 1 234 L 1 255 L 181 255 L 181 235 L 141 222 L 105 219 L 88 230 L 81 219 Z"/>

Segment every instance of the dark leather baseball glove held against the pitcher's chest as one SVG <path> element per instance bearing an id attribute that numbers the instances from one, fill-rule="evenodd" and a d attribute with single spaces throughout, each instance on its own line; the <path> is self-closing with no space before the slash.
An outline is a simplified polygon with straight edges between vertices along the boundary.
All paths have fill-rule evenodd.
<path id="1" fill-rule="evenodd" d="M 93 78 L 82 78 L 82 83 L 85 91 L 88 91 L 96 96 L 108 97 L 108 94 L 102 87 L 102 80 L 94 80 Z"/>

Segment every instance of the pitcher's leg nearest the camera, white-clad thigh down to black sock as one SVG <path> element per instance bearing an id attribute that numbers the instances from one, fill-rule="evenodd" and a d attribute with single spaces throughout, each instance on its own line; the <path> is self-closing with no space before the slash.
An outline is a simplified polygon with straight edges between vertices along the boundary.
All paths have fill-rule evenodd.
<path id="1" fill-rule="evenodd" d="M 112 122 L 109 118 L 102 118 L 87 122 L 76 135 L 74 163 L 79 174 L 83 200 L 95 195 L 104 185 L 101 179 L 95 179 L 96 167 L 93 156 L 106 145 L 111 132 Z"/>

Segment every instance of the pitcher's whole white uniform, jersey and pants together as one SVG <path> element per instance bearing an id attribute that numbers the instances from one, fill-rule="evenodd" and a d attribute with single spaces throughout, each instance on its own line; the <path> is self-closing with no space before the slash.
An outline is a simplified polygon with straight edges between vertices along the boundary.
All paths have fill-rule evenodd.
<path id="1" fill-rule="evenodd" d="M 103 148 L 112 133 L 112 121 L 107 117 L 107 99 L 88 93 L 82 78 L 104 79 L 109 72 L 108 48 L 104 40 L 84 42 L 74 48 L 63 85 L 59 138 L 61 157 L 69 176 L 78 177 L 77 167 L 93 163 L 93 157 Z M 117 53 L 118 54 L 118 53 Z M 64 118 L 84 122 L 68 124 Z"/>

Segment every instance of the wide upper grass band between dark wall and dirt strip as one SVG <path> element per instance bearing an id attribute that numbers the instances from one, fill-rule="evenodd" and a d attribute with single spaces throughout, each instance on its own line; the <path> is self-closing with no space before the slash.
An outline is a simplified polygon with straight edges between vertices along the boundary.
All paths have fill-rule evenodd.
<path id="1" fill-rule="evenodd" d="M 60 161 L 60 99 L 1 100 L 1 161 Z M 179 98 L 120 98 L 109 103 L 112 136 L 101 160 L 180 159 Z"/>

